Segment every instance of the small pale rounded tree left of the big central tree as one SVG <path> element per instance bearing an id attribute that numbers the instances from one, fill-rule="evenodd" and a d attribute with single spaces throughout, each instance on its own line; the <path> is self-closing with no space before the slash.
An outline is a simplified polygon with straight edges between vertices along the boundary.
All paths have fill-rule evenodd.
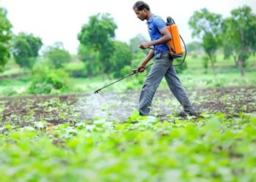
<path id="1" fill-rule="evenodd" d="M 61 42 L 56 42 L 53 46 L 47 47 L 44 56 L 54 68 L 62 68 L 64 63 L 68 63 L 71 60 L 71 55 L 64 49 Z"/>

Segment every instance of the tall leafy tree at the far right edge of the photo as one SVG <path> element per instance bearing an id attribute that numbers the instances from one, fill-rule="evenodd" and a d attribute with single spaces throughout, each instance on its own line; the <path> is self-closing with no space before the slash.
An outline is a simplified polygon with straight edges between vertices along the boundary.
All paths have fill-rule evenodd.
<path id="1" fill-rule="evenodd" d="M 233 9 L 231 17 L 223 21 L 222 30 L 225 57 L 233 56 L 244 76 L 246 60 L 256 51 L 256 15 L 247 6 Z"/>

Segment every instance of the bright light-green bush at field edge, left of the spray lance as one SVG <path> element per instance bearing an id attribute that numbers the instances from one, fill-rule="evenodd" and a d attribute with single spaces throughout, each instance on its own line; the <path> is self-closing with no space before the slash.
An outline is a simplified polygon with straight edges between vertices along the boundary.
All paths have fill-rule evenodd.
<path id="1" fill-rule="evenodd" d="M 59 93 L 69 87 L 69 76 L 61 69 L 54 70 L 39 64 L 33 68 L 32 77 L 28 91 L 34 95 Z"/>

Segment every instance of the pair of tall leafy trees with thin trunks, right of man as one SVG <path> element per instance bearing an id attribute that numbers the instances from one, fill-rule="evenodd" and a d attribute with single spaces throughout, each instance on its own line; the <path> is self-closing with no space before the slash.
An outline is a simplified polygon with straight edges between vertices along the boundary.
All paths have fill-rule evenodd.
<path id="1" fill-rule="evenodd" d="M 225 58 L 233 57 L 244 76 L 246 60 L 256 52 L 256 15 L 250 7 L 233 9 L 230 17 L 226 18 L 206 8 L 200 9 L 190 17 L 189 26 L 192 28 L 192 36 L 201 40 L 214 74 L 216 53 L 222 49 Z"/>

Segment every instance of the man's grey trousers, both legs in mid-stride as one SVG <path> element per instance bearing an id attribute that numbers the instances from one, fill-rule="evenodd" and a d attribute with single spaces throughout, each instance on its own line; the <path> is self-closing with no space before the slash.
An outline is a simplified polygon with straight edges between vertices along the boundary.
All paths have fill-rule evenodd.
<path id="1" fill-rule="evenodd" d="M 186 114 L 195 113 L 195 108 L 190 103 L 187 92 L 178 79 L 170 54 L 162 52 L 159 55 L 155 55 L 154 65 L 146 77 L 143 88 L 140 92 L 140 101 L 138 106 L 140 115 L 147 116 L 149 114 L 154 94 L 164 76 L 170 91 L 173 92 L 173 95 L 176 97 L 178 102 L 181 103 L 181 106 L 184 108 L 184 112 Z"/>

